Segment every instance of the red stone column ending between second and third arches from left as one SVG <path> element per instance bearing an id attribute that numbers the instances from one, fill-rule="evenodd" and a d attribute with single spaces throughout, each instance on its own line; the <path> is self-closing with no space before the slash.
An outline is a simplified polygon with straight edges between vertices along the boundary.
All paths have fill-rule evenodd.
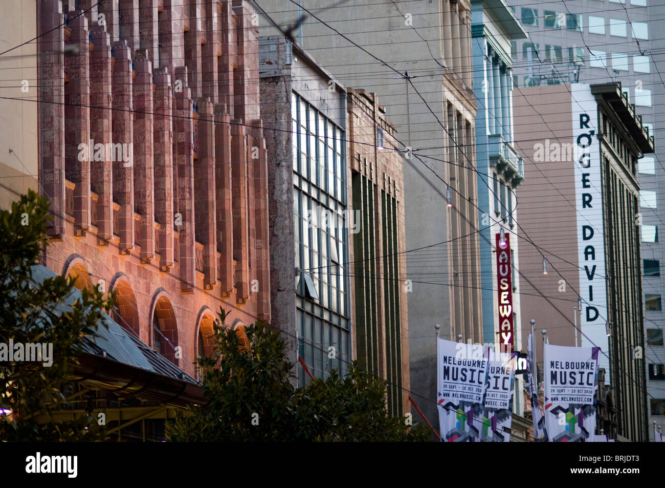
<path id="1" fill-rule="evenodd" d="M 134 203 L 141 216 L 138 228 L 140 258 L 147 263 L 155 251 L 152 63 L 146 51 L 134 61 Z"/>

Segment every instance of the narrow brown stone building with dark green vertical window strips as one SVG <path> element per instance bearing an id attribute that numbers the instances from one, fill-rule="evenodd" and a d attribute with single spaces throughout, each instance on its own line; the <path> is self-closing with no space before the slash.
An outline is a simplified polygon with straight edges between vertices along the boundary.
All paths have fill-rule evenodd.
<path id="1" fill-rule="evenodd" d="M 354 357 L 388 381 L 388 412 L 410 409 L 403 160 L 396 129 L 375 93 L 347 89 L 349 274 Z"/>

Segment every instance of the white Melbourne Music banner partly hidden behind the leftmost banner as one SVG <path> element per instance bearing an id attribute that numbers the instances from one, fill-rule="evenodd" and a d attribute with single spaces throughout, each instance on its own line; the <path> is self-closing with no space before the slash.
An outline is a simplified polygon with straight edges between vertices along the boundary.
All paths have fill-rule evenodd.
<path id="1" fill-rule="evenodd" d="M 489 350 L 481 442 L 509 442 L 513 421 L 513 387 L 515 385 L 515 354 Z"/>

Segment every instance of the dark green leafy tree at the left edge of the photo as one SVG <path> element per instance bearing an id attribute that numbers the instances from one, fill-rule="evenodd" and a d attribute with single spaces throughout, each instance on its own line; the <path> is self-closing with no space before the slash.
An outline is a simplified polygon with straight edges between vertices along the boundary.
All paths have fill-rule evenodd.
<path id="1" fill-rule="evenodd" d="M 83 290 L 72 301 L 73 280 L 64 276 L 41 283 L 32 279 L 32 267 L 49 244 L 49 205 L 32 190 L 0 210 L 0 344 L 53 346 L 53 364 L 0 358 L 0 440 L 97 440 L 96 422 L 85 419 L 37 423 L 37 415 L 51 416 L 64 397 L 61 386 L 76 361 L 83 336 L 92 335 L 111 302 L 102 294 Z M 11 411 L 11 413 L 7 413 Z M 86 427 L 89 427 L 86 429 Z"/>

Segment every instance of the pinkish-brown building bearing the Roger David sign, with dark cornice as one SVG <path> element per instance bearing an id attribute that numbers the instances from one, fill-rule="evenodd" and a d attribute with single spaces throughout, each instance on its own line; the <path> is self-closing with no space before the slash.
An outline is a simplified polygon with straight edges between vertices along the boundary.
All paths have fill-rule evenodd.
<path id="1" fill-rule="evenodd" d="M 646 441 L 637 178 L 654 138 L 620 83 L 518 88 L 513 109 L 517 150 L 547 175 L 517 190 L 521 228 L 539 246 L 520 255 L 522 314 L 549 344 L 600 348 L 597 433 Z"/>

